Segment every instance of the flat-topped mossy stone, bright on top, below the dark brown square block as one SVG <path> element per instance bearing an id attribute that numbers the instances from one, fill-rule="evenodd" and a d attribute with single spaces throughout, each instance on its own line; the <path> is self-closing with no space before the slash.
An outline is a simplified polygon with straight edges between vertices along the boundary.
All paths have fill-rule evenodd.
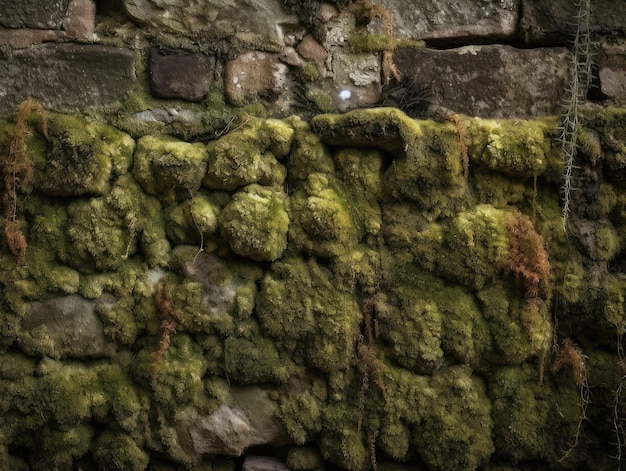
<path id="1" fill-rule="evenodd" d="M 193 196 L 207 171 L 208 154 L 201 143 L 170 136 L 144 136 L 137 141 L 133 176 L 144 191 L 163 202 Z"/>

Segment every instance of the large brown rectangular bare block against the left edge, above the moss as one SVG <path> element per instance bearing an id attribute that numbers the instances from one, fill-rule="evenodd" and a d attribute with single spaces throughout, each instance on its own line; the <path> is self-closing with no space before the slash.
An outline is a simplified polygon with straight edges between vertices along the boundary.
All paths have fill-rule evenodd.
<path id="1" fill-rule="evenodd" d="M 0 115 L 28 97 L 55 111 L 123 100 L 135 83 L 135 54 L 99 45 L 43 44 L 0 57 Z"/>

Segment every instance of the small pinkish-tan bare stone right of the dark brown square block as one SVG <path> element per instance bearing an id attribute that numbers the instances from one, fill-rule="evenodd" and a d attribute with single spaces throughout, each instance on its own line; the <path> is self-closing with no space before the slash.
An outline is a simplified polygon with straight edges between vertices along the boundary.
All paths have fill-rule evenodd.
<path id="1" fill-rule="evenodd" d="M 285 88 L 287 72 L 287 66 L 277 54 L 257 51 L 242 54 L 226 64 L 226 96 L 236 106 L 259 98 L 276 99 Z"/>

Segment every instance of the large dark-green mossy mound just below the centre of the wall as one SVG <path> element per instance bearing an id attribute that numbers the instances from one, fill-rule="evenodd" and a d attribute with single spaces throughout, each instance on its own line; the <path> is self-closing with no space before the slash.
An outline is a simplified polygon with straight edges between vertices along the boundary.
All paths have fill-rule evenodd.
<path id="1" fill-rule="evenodd" d="M 296 363 L 322 371 L 348 366 L 360 312 L 349 293 L 314 259 L 276 262 L 263 278 L 256 314 L 261 329 Z"/>

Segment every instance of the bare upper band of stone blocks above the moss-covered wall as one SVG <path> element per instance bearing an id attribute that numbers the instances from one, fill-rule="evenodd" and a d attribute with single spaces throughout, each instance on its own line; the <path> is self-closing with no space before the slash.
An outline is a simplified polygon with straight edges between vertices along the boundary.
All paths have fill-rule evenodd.
<path id="1" fill-rule="evenodd" d="M 0 6 L 1 115 L 33 97 L 128 126 L 202 121 L 203 132 L 224 124 L 207 111 L 222 99 L 272 115 L 391 103 L 391 64 L 404 86 L 455 112 L 555 114 L 575 15 L 565 0 L 40 3 Z M 594 2 L 593 95 L 617 104 L 623 15 Z"/>

